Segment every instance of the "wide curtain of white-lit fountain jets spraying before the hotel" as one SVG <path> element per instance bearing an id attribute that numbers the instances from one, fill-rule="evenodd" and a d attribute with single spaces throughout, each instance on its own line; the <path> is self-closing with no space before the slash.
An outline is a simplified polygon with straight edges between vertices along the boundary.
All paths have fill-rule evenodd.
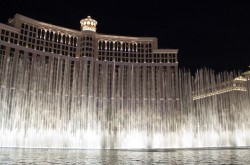
<path id="1" fill-rule="evenodd" d="M 236 74 L 216 75 L 201 70 L 191 76 L 181 71 L 180 98 L 164 100 L 158 96 L 161 91 L 157 88 L 158 83 L 165 82 L 164 75 L 156 83 L 150 81 L 151 77 L 139 79 L 133 65 L 126 71 L 115 64 L 111 68 L 104 66 L 96 75 L 102 81 L 96 82 L 93 81 L 96 77 L 87 74 L 93 73 L 95 67 L 91 61 L 76 62 L 74 67 L 65 59 L 53 60 L 56 65 L 27 61 L 29 58 L 23 57 L 14 64 L 9 57 L 7 67 L 0 70 L 1 147 L 128 149 L 250 145 L 249 86 L 244 86 L 247 91 L 211 94 L 222 89 L 218 84 L 231 82 Z M 106 77 L 108 69 L 113 73 L 112 80 Z M 146 72 L 143 68 L 140 71 Z M 127 86 L 122 83 L 124 74 L 130 83 Z M 119 93 L 128 97 L 120 97 Z M 208 95 L 193 99 L 195 94 L 204 93 Z"/>

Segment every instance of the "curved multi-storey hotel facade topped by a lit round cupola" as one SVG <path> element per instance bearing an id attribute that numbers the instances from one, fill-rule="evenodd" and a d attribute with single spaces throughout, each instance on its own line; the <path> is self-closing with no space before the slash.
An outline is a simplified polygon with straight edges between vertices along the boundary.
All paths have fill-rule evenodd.
<path id="1" fill-rule="evenodd" d="M 71 30 L 20 14 L 0 24 L 1 87 L 101 98 L 105 109 L 129 106 L 114 99 L 177 108 L 177 49 L 158 49 L 154 37 L 99 34 L 91 17 L 80 24 Z"/>

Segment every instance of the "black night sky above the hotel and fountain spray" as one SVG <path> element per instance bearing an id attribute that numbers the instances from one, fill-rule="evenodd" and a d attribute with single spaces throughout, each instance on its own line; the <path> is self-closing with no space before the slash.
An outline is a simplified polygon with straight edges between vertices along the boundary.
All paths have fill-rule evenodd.
<path id="1" fill-rule="evenodd" d="M 250 65 L 250 2 L 236 0 L 0 0 L 0 22 L 15 13 L 78 30 L 88 15 L 104 34 L 157 37 L 179 49 L 181 68 L 245 71 Z"/>

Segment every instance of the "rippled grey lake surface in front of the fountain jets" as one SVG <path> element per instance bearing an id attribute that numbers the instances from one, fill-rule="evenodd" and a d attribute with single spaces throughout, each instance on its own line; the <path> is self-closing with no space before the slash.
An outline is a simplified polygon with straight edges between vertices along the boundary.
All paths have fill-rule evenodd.
<path id="1" fill-rule="evenodd" d="M 250 149 L 59 150 L 0 148 L 1 164 L 250 164 Z"/>

